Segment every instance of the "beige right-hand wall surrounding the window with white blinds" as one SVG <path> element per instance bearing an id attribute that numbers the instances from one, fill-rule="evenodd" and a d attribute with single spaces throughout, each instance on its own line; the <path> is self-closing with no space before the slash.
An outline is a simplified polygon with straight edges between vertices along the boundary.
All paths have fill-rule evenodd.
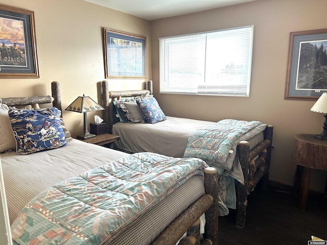
<path id="1" fill-rule="evenodd" d="M 270 179 L 292 184 L 294 136 L 321 133 L 324 117 L 310 112 L 314 101 L 284 100 L 290 32 L 327 28 L 326 9 L 325 0 L 258 0 L 152 21 L 152 79 L 162 110 L 170 116 L 260 120 L 273 125 Z M 159 94 L 159 37 L 250 24 L 254 25 L 250 97 Z M 324 175 L 314 171 L 311 188 L 321 191 Z"/>

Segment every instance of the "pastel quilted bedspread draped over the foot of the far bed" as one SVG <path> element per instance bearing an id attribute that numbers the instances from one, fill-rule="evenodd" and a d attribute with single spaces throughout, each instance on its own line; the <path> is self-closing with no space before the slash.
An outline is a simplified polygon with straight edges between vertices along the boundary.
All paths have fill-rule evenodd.
<path id="1" fill-rule="evenodd" d="M 224 119 L 217 124 L 196 130 L 190 135 L 184 157 L 197 157 L 214 166 L 219 175 L 219 196 L 228 208 L 236 208 L 234 179 L 243 180 L 242 168 L 236 157 L 237 145 L 266 128 L 260 121 Z M 238 164 L 238 166 L 233 165 Z M 240 173 L 233 173 L 239 171 Z"/>

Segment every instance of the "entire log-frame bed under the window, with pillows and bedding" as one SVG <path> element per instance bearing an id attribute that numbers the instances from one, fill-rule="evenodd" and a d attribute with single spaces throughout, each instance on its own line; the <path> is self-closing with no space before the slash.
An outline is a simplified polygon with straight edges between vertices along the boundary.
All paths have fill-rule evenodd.
<path id="1" fill-rule="evenodd" d="M 237 210 L 236 226 L 244 227 L 247 195 L 260 180 L 264 185 L 268 181 L 273 126 L 260 121 L 211 122 L 166 116 L 152 95 L 152 81 L 146 87 L 110 91 L 108 81 L 102 82 L 107 132 L 120 136 L 113 148 L 129 153 L 199 157 L 216 167 L 219 195 L 228 208 Z M 228 141 L 227 156 L 222 159 L 220 145 L 226 139 L 219 138 L 219 132 L 224 132 L 226 138 L 234 137 L 232 144 Z"/>

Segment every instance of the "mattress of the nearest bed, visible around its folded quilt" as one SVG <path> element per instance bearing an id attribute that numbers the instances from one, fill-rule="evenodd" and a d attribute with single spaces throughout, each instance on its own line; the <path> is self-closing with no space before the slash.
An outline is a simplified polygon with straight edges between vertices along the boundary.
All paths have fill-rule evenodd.
<path id="1" fill-rule="evenodd" d="M 86 153 L 86 154 L 85 154 Z M 0 155 L 10 224 L 26 203 L 39 192 L 104 162 L 128 154 L 73 139 L 62 148 L 29 155 Z M 149 244 L 186 207 L 204 194 L 202 176 L 194 176 L 154 206 L 110 244 Z M 175 205 L 178 203 L 178 205 Z M 160 220 L 158 222 L 158 220 Z"/>

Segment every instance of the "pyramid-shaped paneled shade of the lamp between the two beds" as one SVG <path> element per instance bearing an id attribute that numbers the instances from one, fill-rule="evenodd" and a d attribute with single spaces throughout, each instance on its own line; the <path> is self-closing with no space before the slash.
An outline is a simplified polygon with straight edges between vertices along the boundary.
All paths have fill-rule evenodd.
<path id="1" fill-rule="evenodd" d="M 78 96 L 77 99 L 69 105 L 66 111 L 75 111 L 75 112 L 89 112 L 89 111 L 100 111 L 104 110 L 97 102 L 92 100 L 89 96 Z"/>

